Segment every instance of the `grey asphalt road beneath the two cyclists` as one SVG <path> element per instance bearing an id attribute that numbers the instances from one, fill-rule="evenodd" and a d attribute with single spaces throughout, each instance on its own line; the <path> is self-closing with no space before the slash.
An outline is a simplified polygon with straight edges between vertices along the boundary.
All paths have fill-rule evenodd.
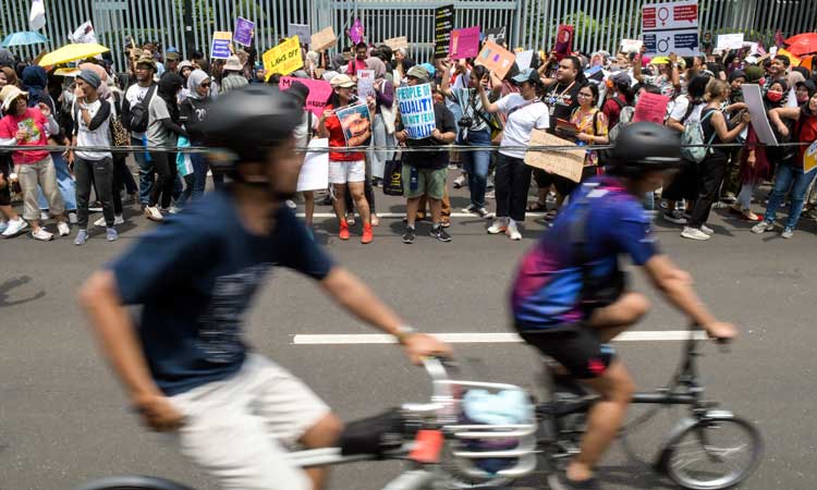
<path id="1" fill-rule="evenodd" d="M 402 210 L 401 200 L 378 194 L 381 211 Z M 455 208 L 464 193 L 454 193 Z M 319 208 L 328 212 L 329 208 Z M 99 265 L 132 245 L 153 224 L 133 209 L 121 238 L 95 234 L 83 247 L 72 240 L 40 243 L 27 236 L 0 243 L 0 489 L 70 489 L 115 474 L 164 476 L 197 489 L 215 489 L 173 453 L 162 437 L 143 430 L 99 357 L 75 302 L 81 282 Z M 430 332 L 507 332 L 507 289 L 515 264 L 542 225 L 528 220 L 521 243 L 488 236 L 475 218 L 455 218 L 453 242 L 438 243 L 423 225 L 415 244 L 400 242 L 399 218 L 386 219 L 373 245 L 339 242 L 331 219 L 318 219 L 317 240 L 359 274 L 412 324 Z M 817 294 L 817 226 L 803 221 L 794 238 L 753 235 L 746 223 L 714 213 L 715 237 L 706 243 L 679 236 L 660 221 L 664 250 L 696 279 L 716 314 L 735 322 L 741 338 L 727 354 L 709 346 L 703 359 L 708 394 L 754 421 L 766 457 L 743 486 L 753 490 L 807 490 L 817 470 L 814 424 L 814 298 Z M 359 225 L 358 225 L 359 228 Z M 359 230 L 357 230 L 359 233 Z M 73 237 L 73 233 L 72 233 Z M 638 330 L 681 330 L 685 322 L 647 291 L 654 309 Z M 315 285 L 277 271 L 255 302 L 249 336 L 261 353 L 301 376 L 344 419 L 428 396 L 428 381 L 400 351 L 383 345 L 295 345 L 297 333 L 373 332 L 339 310 Z M 676 341 L 619 344 L 639 384 L 659 385 L 671 375 Z M 531 385 L 534 353 L 522 344 L 458 344 L 461 358 L 476 358 L 475 378 Z M 641 408 L 634 408 L 633 415 Z M 674 420 L 675 409 L 639 430 L 635 452 L 648 457 Z M 236 441 L 236 443 L 240 443 Z M 379 489 L 400 470 L 395 463 L 339 468 L 330 488 Z M 617 444 L 601 476 L 609 489 L 672 488 Z M 547 488 L 541 476 L 529 487 Z"/>

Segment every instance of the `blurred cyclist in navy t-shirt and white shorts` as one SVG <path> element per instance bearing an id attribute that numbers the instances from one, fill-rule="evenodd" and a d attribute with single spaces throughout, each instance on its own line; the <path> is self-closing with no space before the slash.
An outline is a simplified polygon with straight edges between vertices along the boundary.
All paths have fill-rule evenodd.
<path id="1" fill-rule="evenodd" d="M 144 421 L 173 432 L 182 453 L 223 489 L 319 489 L 325 470 L 294 467 L 285 448 L 334 445 L 341 430 L 308 387 L 244 341 L 244 316 L 272 267 L 319 281 L 350 313 L 394 334 L 414 362 L 449 353 L 332 264 L 283 205 L 303 160 L 293 137 L 302 112 L 269 85 L 219 97 L 203 130 L 208 146 L 223 149 L 214 171 L 233 183 L 168 219 L 81 292 Z M 143 306 L 138 328 L 125 305 Z"/>

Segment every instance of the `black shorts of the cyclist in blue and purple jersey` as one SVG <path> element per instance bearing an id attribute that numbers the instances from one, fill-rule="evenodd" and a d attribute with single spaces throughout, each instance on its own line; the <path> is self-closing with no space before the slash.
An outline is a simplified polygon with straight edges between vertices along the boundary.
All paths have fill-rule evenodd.
<path id="1" fill-rule="evenodd" d="M 547 329 L 517 327 L 520 336 L 564 366 L 576 379 L 603 375 L 615 358 L 615 350 L 602 344 L 596 329 L 585 323 L 570 323 Z"/>

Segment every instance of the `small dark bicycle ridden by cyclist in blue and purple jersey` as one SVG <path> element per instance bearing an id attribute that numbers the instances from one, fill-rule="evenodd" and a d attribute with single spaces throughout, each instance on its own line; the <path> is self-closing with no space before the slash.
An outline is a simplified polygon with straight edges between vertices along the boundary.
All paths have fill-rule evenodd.
<path id="1" fill-rule="evenodd" d="M 717 403 L 703 399 L 704 385 L 696 366 L 696 359 L 702 356 L 699 332 L 698 326 L 690 327 L 681 364 L 666 387 L 633 395 L 634 404 L 655 404 L 658 407 L 631 422 L 630 427 L 645 422 L 662 406 L 688 405 L 690 416 L 672 428 L 653 467 L 685 489 L 727 489 L 754 473 L 763 457 L 764 442 L 752 422 L 731 412 L 716 409 Z M 550 468 L 556 469 L 560 463 L 578 454 L 586 414 L 598 396 L 560 393 L 547 362 L 545 369 L 550 397 L 537 404 L 538 448 Z M 623 428 L 620 437 L 625 437 L 626 430 Z M 737 434 L 735 445 L 725 446 L 725 442 L 716 441 L 718 436 L 732 432 Z"/>

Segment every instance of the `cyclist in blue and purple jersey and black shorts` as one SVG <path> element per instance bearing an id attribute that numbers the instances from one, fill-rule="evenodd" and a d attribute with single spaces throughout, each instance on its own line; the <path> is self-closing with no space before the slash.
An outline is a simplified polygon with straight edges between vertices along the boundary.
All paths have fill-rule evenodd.
<path id="1" fill-rule="evenodd" d="M 520 335 L 560 363 L 557 382 L 581 380 L 601 395 L 587 420 L 582 452 L 551 488 L 597 489 L 593 469 L 621 426 L 634 383 L 606 343 L 643 317 L 646 296 L 626 292 L 619 254 L 644 267 L 653 283 L 711 338 L 728 340 L 733 326 L 719 322 L 695 295 L 691 277 L 661 254 L 641 196 L 662 185 L 681 164 L 679 135 L 653 123 L 625 127 L 615 142 L 608 175 L 576 189 L 553 228 L 527 252 L 511 293 Z M 568 378 L 565 380 L 565 378 Z"/>

